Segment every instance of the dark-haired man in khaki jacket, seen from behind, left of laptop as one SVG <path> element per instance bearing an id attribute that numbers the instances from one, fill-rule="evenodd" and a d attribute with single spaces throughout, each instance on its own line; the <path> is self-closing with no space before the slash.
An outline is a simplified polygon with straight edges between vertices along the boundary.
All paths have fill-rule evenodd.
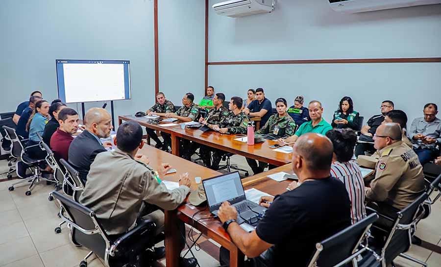
<path id="1" fill-rule="evenodd" d="M 162 164 L 158 172 L 149 167 L 147 157 L 137 154 L 144 146 L 142 138 L 143 130 L 137 122 L 121 124 L 115 140 L 117 148 L 97 155 L 79 198 L 81 204 L 96 212 L 105 232 L 115 238 L 135 227 L 139 219 L 152 220 L 159 235 L 164 231 L 162 210 L 176 209 L 190 193 L 188 175 L 181 175 L 179 187 L 172 191 L 161 183 L 158 172 L 164 177 L 171 167 Z M 184 222 L 176 227 L 185 234 Z M 184 240 L 179 242 L 184 248 Z M 164 247 L 155 248 L 154 260 L 164 255 Z M 195 258 L 181 258 L 181 266 L 194 267 L 196 263 Z"/>

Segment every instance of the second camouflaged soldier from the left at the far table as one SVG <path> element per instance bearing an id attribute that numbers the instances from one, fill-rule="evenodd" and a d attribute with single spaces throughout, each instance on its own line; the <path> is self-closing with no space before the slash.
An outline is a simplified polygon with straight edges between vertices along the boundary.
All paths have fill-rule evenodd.
<path id="1" fill-rule="evenodd" d="M 194 100 L 195 96 L 192 93 L 185 94 L 182 98 L 182 107 L 180 107 L 175 113 L 166 113 L 165 117 L 175 118 L 184 122 L 198 121 L 200 118 L 200 110 L 195 103 L 193 103 Z M 167 150 L 168 146 L 172 146 L 172 136 L 164 132 L 161 132 L 161 135 L 164 138 L 163 150 Z M 182 148 L 180 149 L 181 156 L 189 160 L 191 157 L 191 155 L 189 155 L 191 142 L 189 140 L 181 140 L 180 146 Z"/>

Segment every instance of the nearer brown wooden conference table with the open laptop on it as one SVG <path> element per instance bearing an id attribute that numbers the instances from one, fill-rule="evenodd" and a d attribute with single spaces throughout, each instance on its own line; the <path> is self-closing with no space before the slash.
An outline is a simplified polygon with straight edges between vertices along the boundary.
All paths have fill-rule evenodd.
<path id="1" fill-rule="evenodd" d="M 161 177 L 163 180 L 177 182 L 180 174 L 188 172 L 193 181 L 191 186 L 192 190 L 197 188 L 194 177 L 199 176 L 203 180 L 221 175 L 221 173 L 216 170 L 211 170 L 196 163 L 189 162 L 183 158 L 154 148 L 153 146 L 144 146 L 143 149 L 139 150 L 138 153 L 146 155 L 150 161 L 149 166 L 154 169 L 161 167 L 161 163 L 168 163 L 173 169 L 176 169 L 176 173 L 167 174 L 164 177 Z M 245 190 L 249 188 L 256 188 L 272 195 L 282 194 L 286 191 L 289 181 L 279 183 L 266 177 L 267 174 L 276 173 L 279 171 L 292 173 L 291 164 L 243 179 L 242 182 Z M 195 216 L 196 212 L 198 212 L 198 214 Z M 198 220 L 196 222 L 196 220 L 199 218 L 209 219 Z M 221 221 L 212 217 L 206 205 L 195 207 L 189 202 L 185 201 L 185 203 L 179 206 L 177 210 L 165 212 L 165 246 L 167 247 L 167 266 L 179 266 L 179 255 L 181 251 L 177 240 L 181 238 L 181 234 L 176 227 L 178 220 L 182 220 L 185 223 L 194 226 L 198 231 L 206 235 L 208 238 L 213 239 L 228 249 L 230 251 L 231 267 L 240 267 L 244 265 L 244 254 L 231 241 L 230 236 L 224 231 Z"/>

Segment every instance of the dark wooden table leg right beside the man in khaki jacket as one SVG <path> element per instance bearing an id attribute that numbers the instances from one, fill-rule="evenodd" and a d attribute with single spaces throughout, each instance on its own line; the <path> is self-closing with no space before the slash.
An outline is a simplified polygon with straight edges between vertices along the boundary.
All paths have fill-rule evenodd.
<path id="1" fill-rule="evenodd" d="M 181 248 L 179 247 L 180 233 L 177 227 L 178 218 L 177 211 L 165 211 L 165 247 L 166 247 L 166 266 L 179 266 L 179 255 Z"/>

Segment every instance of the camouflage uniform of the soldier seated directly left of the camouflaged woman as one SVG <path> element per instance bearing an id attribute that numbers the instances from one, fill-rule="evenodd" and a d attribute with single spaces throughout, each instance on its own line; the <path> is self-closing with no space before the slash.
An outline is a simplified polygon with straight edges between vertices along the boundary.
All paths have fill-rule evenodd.
<path id="1" fill-rule="evenodd" d="M 221 128 L 228 128 L 228 133 L 230 134 L 245 134 L 248 121 L 248 117 L 244 113 L 241 112 L 238 115 L 234 115 L 233 112 L 230 112 L 217 125 Z M 223 150 L 204 145 L 200 146 L 199 152 L 205 166 L 213 170 L 219 169 L 222 156 L 227 153 Z M 210 152 L 213 152 L 213 164 L 211 164 Z"/>

